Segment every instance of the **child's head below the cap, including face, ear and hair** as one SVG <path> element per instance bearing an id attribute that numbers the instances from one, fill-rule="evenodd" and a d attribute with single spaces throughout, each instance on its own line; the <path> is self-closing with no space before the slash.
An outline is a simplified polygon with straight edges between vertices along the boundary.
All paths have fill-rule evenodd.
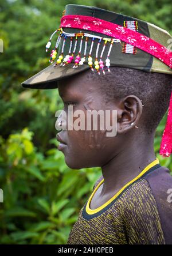
<path id="1" fill-rule="evenodd" d="M 85 127 L 87 110 L 117 111 L 115 136 L 107 137 L 106 129 L 69 130 L 67 127 L 59 133 L 67 144 L 62 151 L 71 168 L 101 167 L 124 148 L 130 148 L 134 140 L 142 142 L 150 138 L 169 106 L 171 75 L 126 67 L 111 66 L 110 70 L 99 75 L 89 69 L 58 81 L 67 122 L 69 104 L 73 104 L 73 112 L 84 111 Z M 111 115 L 111 125 L 112 118 Z M 73 122 L 76 119 L 78 116 L 73 117 Z"/>

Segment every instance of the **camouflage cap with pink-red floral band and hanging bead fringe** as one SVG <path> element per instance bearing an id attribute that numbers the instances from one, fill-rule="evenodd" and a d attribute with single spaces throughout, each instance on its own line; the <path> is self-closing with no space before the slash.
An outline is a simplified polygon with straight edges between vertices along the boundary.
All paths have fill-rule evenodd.
<path id="1" fill-rule="evenodd" d="M 95 27 L 90 25 L 91 22 Z M 118 35 L 115 32 L 115 37 L 112 33 L 113 28 L 118 32 Z M 58 88 L 58 80 L 73 76 L 90 67 L 92 70 L 98 71 L 99 74 L 99 70 L 110 71 L 109 66 L 172 74 L 172 52 L 169 50 L 172 37 L 169 32 L 150 22 L 95 6 L 69 4 L 65 6 L 62 13 L 60 28 L 52 36 L 58 31 L 60 31 L 60 35 L 58 35 L 56 47 L 50 55 L 52 64 L 22 82 L 23 87 Z M 127 33 L 131 31 L 132 37 L 124 37 L 126 31 Z M 142 43 L 140 44 L 136 44 L 136 37 L 134 37 L 138 35 L 141 36 L 140 42 Z M 50 47 L 50 41 L 46 48 Z M 157 43 L 158 46 L 157 44 L 151 46 L 148 44 L 150 42 Z M 148 47 L 150 48 L 148 49 Z M 73 59 L 67 62 L 70 54 L 73 55 Z M 55 59 L 56 64 L 54 65 Z M 166 61 L 167 59 L 169 62 Z M 95 63 L 95 69 L 93 69 L 93 63 Z M 106 64 L 103 65 L 103 63 Z M 73 66 L 77 68 L 72 68 Z"/>

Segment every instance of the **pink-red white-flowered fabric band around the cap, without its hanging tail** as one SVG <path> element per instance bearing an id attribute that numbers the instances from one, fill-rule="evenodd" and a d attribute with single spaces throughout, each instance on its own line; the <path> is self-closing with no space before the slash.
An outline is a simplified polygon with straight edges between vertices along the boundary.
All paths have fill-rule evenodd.
<path id="1" fill-rule="evenodd" d="M 60 27 L 85 29 L 115 37 L 148 52 L 169 66 L 169 68 L 172 68 L 172 51 L 150 37 L 142 35 L 139 32 L 132 31 L 129 28 L 101 20 L 100 18 L 83 15 L 63 16 L 61 18 Z"/>

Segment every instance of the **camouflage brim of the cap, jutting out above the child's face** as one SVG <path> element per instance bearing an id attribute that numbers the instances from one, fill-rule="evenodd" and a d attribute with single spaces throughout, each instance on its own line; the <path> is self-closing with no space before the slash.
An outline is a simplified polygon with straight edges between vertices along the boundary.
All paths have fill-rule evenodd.
<path id="1" fill-rule="evenodd" d="M 30 77 L 28 80 L 22 82 L 22 86 L 32 89 L 54 89 L 58 88 L 58 80 L 73 76 L 86 69 L 89 69 L 88 64 L 80 65 L 72 68 L 75 63 L 68 63 L 65 66 L 56 65 L 54 63 L 40 72 Z"/>

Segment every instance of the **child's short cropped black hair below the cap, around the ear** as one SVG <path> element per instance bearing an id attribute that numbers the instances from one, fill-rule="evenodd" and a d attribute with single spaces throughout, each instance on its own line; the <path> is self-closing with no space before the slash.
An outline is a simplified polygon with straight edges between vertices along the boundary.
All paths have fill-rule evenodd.
<path id="1" fill-rule="evenodd" d="M 142 100 L 143 129 L 151 134 L 165 115 L 172 91 L 171 74 L 146 72 L 128 67 L 105 67 L 105 74 L 86 70 L 88 80 L 99 82 L 106 101 L 135 95 Z"/>

